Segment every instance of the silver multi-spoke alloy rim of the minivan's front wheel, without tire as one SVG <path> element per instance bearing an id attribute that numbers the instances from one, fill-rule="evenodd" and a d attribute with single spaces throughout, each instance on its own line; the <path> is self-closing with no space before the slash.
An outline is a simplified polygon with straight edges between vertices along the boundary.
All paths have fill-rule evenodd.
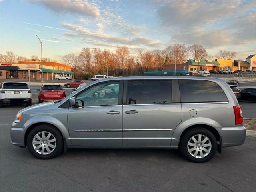
<path id="1" fill-rule="evenodd" d="M 56 148 L 56 138 L 47 131 L 38 132 L 32 140 L 33 148 L 42 155 L 48 155 Z"/>

